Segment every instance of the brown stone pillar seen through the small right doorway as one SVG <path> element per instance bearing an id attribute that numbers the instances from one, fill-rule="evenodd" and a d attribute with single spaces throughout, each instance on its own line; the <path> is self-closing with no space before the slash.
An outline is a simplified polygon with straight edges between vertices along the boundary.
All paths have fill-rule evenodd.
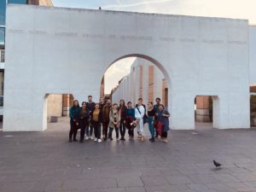
<path id="1" fill-rule="evenodd" d="M 210 96 L 196 96 L 196 121 L 210 122 L 209 99 Z"/>

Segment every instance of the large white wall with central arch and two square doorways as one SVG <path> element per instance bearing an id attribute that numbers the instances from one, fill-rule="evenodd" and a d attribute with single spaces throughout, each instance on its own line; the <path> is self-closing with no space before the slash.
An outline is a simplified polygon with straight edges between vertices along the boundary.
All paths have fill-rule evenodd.
<path id="1" fill-rule="evenodd" d="M 9 4 L 6 26 L 3 131 L 45 130 L 45 94 L 97 101 L 127 56 L 165 75 L 172 129 L 195 128 L 198 95 L 218 96 L 217 128 L 250 126 L 247 20 Z"/>

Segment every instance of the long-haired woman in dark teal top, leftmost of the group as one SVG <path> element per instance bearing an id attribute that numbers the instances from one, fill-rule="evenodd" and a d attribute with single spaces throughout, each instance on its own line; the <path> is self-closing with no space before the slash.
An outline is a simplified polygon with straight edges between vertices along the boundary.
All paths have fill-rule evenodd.
<path id="1" fill-rule="evenodd" d="M 69 109 L 69 117 L 70 117 L 70 131 L 69 131 L 69 142 L 78 142 L 77 140 L 77 132 L 79 128 L 79 101 L 74 100 L 73 101 L 73 107 Z"/>

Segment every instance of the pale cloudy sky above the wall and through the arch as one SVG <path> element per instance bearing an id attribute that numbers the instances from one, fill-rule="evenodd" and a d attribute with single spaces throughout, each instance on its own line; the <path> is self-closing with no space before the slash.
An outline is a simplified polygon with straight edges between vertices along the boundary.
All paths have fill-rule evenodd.
<path id="1" fill-rule="evenodd" d="M 172 15 L 193 15 L 247 19 L 256 26 L 256 0 L 52 0 L 55 7 L 136 11 Z M 105 92 L 130 72 L 134 58 L 109 67 Z M 117 75 L 118 74 L 118 75 Z"/>

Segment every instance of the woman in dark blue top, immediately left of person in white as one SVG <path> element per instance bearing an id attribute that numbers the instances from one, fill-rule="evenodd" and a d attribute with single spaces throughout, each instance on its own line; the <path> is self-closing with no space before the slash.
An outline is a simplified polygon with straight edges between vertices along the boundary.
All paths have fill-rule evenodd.
<path id="1" fill-rule="evenodd" d="M 134 108 L 131 107 L 131 102 L 127 102 L 125 123 L 126 123 L 126 127 L 128 129 L 128 134 L 129 134 L 130 140 L 133 140 L 133 137 L 134 137 L 134 126 L 132 125 L 134 120 L 135 120 Z"/>

